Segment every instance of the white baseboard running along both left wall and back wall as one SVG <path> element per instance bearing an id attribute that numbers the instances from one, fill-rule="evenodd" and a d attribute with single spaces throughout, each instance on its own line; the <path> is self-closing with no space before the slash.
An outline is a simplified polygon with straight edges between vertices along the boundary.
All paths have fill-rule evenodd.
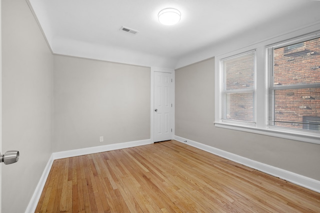
<path id="1" fill-rule="evenodd" d="M 151 139 L 145 139 L 145 140 L 136 140 L 136 141 L 130 141 L 130 142 L 122 142 L 122 143 L 114 143 L 114 144 L 108 144 L 108 145 L 101 145 L 101 146 L 94 146 L 94 147 L 87 147 L 87 148 L 80 148 L 80 149 L 74 149 L 74 150 L 67 150 L 67 151 L 59 151 L 59 152 L 53 152 L 51 154 L 51 157 L 49 158 L 48 162 L 46 163 L 46 166 L 43 170 L 43 173 L 40 177 L 40 180 L 33 192 L 33 195 L 30 199 L 30 202 L 25 210 L 25 213 L 31 213 L 35 211 L 35 208 L 39 202 L 45 181 L 49 175 L 53 160 L 55 159 L 61 159 L 65 157 L 74 157 L 84 154 L 92 154 L 92 153 L 98 153 L 102 151 L 111 151 L 115 149 L 121 149 L 121 148 L 129 148 L 139 145 L 147 145 L 151 144 Z"/>

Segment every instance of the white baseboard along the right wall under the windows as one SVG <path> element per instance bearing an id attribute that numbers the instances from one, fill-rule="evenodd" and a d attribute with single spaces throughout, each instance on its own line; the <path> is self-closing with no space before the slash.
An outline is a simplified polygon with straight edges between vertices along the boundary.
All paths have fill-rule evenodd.
<path id="1" fill-rule="evenodd" d="M 270 174 L 275 177 L 279 177 L 281 179 L 287 180 L 289 182 L 292 182 L 294 184 L 300 185 L 302 187 L 311 189 L 313 191 L 319 192 L 320 193 L 320 181 L 316 179 L 312 179 L 310 177 L 306 177 L 291 171 L 284 170 L 282 168 L 274 167 L 272 165 L 268 165 L 262 162 L 258 162 L 246 157 L 242 157 L 237 154 L 233 154 L 231 152 L 227 152 L 218 148 L 214 148 L 209 145 L 205 145 L 193 140 L 189 140 L 180 136 L 174 135 L 174 139 L 186 143 L 188 145 L 191 145 L 193 147 L 202 149 L 204 151 L 210 152 L 212 154 L 221 156 L 223 158 L 232 160 L 234 162 L 240 163 L 242 165 L 246 165 L 250 168 L 254 168 L 256 170 L 262 171 L 264 173 Z M 184 142 L 187 141 L 187 142 Z"/>

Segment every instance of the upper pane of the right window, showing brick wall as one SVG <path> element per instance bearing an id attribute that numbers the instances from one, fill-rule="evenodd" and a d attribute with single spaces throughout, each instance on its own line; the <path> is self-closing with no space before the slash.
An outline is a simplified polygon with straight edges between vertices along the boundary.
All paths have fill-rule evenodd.
<path id="1" fill-rule="evenodd" d="M 273 84 L 320 82 L 320 38 L 273 50 Z"/>

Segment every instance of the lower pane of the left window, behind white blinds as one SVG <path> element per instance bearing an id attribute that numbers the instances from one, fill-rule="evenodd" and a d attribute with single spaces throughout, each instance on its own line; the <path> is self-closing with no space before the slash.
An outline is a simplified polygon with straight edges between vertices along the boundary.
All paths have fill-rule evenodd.
<path id="1" fill-rule="evenodd" d="M 222 117 L 231 120 L 254 122 L 254 92 L 226 93 Z"/>

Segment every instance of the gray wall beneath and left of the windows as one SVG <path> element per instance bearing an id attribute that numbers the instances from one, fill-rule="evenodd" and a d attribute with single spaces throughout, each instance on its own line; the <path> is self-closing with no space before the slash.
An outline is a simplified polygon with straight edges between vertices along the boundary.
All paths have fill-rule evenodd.
<path id="1" fill-rule="evenodd" d="M 320 180 L 320 145 L 214 127 L 214 59 L 175 70 L 175 135 Z"/>

